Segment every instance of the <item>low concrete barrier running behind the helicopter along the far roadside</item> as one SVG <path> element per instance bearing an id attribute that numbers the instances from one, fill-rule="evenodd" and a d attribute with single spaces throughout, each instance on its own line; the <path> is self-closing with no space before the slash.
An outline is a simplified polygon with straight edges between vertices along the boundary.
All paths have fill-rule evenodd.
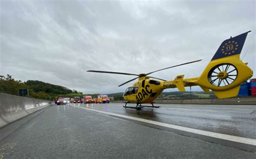
<path id="1" fill-rule="evenodd" d="M 113 100 L 112 103 L 124 103 L 125 100 Z M 232 105 L 256 105 L 256 97 L 233 97 L 233 98 L 192 98 L 192 99 L 157 99 L 158 104 L 232 104 Z"/>

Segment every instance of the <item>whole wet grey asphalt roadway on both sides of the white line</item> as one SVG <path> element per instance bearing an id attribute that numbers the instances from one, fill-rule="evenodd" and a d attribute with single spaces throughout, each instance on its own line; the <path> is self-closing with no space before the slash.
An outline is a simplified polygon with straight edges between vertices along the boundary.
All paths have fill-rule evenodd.
<path id="1" fill-rule="evenodd" d="M 251 135 L 250 138 L 255 139 L 255 129 L 252 128 L 255 127 L 255 114 L 247 115 L 255 110 L 254 106 L 209 108 L 210 106 L 165 105 L 159 109 L 136 111 L 124 109 L 121 105 L 79 106 L 204 129 L 214 129 L 220 127 L 219 125 L 231 123 L 230 131 L 225 127 L 226 133 L 234 132 L 247 138 Z M 22 120 L 24 121 L 16 126 L 12 133 L 0 141 L 0 158 L 256 157 L 256 154 L 250 151 L 191 138 L 72 105 L 54 105 L 34 117 L 25 117 Z M 0 129 L 0 134 L 6 134 L 6 129 L 14 127 L 17 123 Z M 205 123 L 208 126 L 204 125 Z M 250 128 L 244 130 L 246 126 L 241 124 Z M 220 132 L 220 128 L 217 131 Z"/>

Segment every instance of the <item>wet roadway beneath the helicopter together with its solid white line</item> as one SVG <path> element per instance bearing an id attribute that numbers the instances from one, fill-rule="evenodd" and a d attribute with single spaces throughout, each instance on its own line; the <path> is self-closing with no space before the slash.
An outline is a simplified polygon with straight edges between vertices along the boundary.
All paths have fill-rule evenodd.
<path id="1" fill-rule="evenodd" d="M 139 111 L 125 109 L 122 104 L 114 103 L 75 104 L 74 106 L 101 111 L 105 114 L 112 113 L 114 117 L 126 120 L 135 117 L 137 119 L 131 119 L 131 121 L 142 125 L 224 146 L 256 151 L 254 111 L 256 107 L 253 105 L 158 105 L 161 106 L 159 109 L 144 107 Z M 144 119 L 147 121 L 140 122 Z M 152 123 L 154 121 L 158 123 Z"/>

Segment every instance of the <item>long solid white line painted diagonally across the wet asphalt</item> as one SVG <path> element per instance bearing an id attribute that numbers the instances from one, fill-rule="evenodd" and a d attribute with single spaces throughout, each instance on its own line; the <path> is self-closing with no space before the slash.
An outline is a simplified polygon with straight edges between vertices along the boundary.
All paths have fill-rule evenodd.
<path id="1" fill-rule="evenodd" d="M 89 110 L 89 111 L 94 111 L 94 112 L 114 115 L 116 117 L 122 117 L 122 118 L 126 118 L 126 119 L 132 119 L 132 120 L 146 122 L 146 123 L 149 123 L 149 124 L 154 124 L 154 125 L 159 125 L 159 126 L 163 126 L 163 127 L 173 128 L 173 129 L 177 129 L 177 130 L 185 131 L 185 132 L 189 132 L 189 133 L 200 134 L 200 135 L 204 135 L 204 136 L 210 136 L 212 138 L 218 138 L 218 139 L 234 141 L 234 142 L 240 142 L 240 143 L 245 143 L 245 144 L 251 144 L 251 145 L 256 146 L 256 139 L 242 138 L 242 137 L 239 137 L 239 136 L 226 135 L 226 134 L 220 134 L 220 133 L 214 133 L 214 132 L 208 132 L 208 131 L 202 131 L 202 130 L 199 130 L 199 129 L 188 128 L 188 127 L 172 125 L 172 124 L 166 124 L 166 123 L 163 123 L 163 122 L 152 121 L 152 120 L 147 120 L 147 119 L 141 119 L 141 118 L 136 118 L 136 117 L 130 117 L 130 116 L 127 116 L 127 115 L 121 115 L 121 114 L 103 112 L 103 111 L 98 111 L 98 110 L 93 110 L 93 109 L 87 109 L 85 107 L 80 107 L 80 106 L 76 106 L 76 105 L 72 105 L 72 106 L 78 107 L 80 109 Z"/>

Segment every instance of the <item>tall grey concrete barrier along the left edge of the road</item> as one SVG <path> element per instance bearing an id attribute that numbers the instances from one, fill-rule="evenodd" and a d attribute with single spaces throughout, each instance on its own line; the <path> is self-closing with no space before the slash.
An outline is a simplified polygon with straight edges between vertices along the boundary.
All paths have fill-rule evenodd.
<path id="1" fill-rule="evenodd" d="M 0 127 L 49 106 L 51 101 L 0 93 Z"/>

